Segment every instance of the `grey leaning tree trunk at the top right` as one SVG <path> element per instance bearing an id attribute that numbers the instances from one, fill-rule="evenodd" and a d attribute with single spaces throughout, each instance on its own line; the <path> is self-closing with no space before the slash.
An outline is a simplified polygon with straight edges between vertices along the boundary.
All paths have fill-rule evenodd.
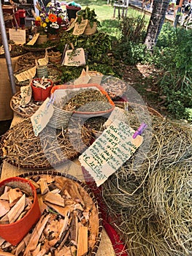
<path id="1" fill-rule="evenodd" d="M 147 34 L 145 37 L 145 45 L 147 49 L 153 51 L 158 35 L 164 24 L 166 10 L 169 6 L 169 0 L 154 0 L 153 12 L 150 16 L 150 22 L 147 27 Z"/>

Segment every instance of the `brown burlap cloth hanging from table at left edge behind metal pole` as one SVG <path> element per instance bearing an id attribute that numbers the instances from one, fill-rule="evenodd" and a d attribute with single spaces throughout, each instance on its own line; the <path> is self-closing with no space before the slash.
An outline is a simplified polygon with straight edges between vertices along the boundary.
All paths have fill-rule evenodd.
<path id="1" fill-rule="evenodd" d="M 12 69 L 15 70 L 15 64 L 18 57 L 12 58 Z M 9 82 L 7 70 L 7 62 L 5 58 L 0 58 L 0 121 L 12 119 L 12 109 L 10 108 L 10 100 L 12 98 L 12 89 Z"/>

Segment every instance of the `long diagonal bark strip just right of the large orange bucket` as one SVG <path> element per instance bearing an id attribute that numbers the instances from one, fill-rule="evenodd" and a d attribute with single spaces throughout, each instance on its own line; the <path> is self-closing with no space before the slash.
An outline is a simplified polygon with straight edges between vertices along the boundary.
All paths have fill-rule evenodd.
<path id="1" fill-rule="evenodd" d="M 37 222 L 37 225 L 34 227 L 30 241 L 26 246 L 26 250 L 23 256 L 27 256 L 28 252 L 34 251 L 34 249 L 36 249 L 37 244 L 39 242 L 39 238 L 42 235 L 42 231 L 44 230 L 44 227 L 47 224 L 49 219 L 50 219 L 50 214 L 47 214 L 47 216 L 42 215 L 42 217 L 39 219 L 39 222 Z"/>

